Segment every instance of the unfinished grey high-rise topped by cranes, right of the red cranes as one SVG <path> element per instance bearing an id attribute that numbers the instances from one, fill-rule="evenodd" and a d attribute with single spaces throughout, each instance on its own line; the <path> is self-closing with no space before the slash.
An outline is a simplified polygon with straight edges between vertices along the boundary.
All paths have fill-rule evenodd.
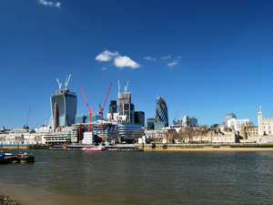
<path id="1" fill-rule="evenodd" d="M 127 92 L 127 86 L 125 92 L 120 92 L 118 81 L 118 96 L 117 96 L 117 108 L 116 112 L 120 116 L 126 115 L 126 122 L 135 122 L 135 105 L 131 103 L 131 92 Z"/>

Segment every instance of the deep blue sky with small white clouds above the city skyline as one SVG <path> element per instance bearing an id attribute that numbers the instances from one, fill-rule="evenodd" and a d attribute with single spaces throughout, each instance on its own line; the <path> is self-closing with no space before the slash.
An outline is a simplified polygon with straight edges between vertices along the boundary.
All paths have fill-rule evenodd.
<path id="1" fill-rule="evenodd" d="M 228 113 L 273 118 L 273 1 L 1 0 L 0 127 L 39 128 L 51 117 L 56 78 L 76 92 L 77 115 L 117 100 L 154 118 L 164 97 L 199 125 Z M 64 86 L 63 86 L 64 87 Z M 30 112 L 29 112 L 30 110 Z M 178 110 L 178 111 L 177 111 Z"/>

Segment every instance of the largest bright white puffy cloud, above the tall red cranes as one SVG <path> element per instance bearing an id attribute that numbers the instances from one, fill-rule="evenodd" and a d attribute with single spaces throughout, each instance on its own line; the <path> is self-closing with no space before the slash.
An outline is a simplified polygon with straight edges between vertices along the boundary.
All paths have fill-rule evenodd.
<path id="1" fill-rule="evenodd" d="M 100 53 L 99 55 L 96 56 L 95 58 L 99 62 L 106 62 L 106 61 L 112 61 L 113 60 L 113 65 L 116 67 L 131 67 L 133 69 L 140 67 L 139 64 L 137 64 L 134 60 L 132 60 L 128 56 L 120 56 L 119 53 L 116 52 L 110 52 L 108 50 Z"/>

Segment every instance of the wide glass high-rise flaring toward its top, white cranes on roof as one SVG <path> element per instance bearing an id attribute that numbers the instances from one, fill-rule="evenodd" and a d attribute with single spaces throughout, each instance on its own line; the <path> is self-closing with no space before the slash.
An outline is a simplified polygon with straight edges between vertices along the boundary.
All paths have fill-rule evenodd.
<path id="1" fill-rule="evenodd" d="M 57 79 L 59 90 L 53 92 L 50 97 L 54 128 L 71 126 L 75 123 L 77 97 L 76 93 L 67 89 L 69 79 L 70 76 L 68 79 L 66 77 L 65 89 L 62 89 L 62 84 Z"/>

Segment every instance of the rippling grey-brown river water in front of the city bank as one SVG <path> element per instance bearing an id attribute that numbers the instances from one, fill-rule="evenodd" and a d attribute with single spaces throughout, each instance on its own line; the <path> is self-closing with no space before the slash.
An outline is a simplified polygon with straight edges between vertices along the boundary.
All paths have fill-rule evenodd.
<path id="1" fill-rule="evenodd" d="M 273 204 L 271 151 L 30 151 L 0 166 L 23 204 Z"/>

